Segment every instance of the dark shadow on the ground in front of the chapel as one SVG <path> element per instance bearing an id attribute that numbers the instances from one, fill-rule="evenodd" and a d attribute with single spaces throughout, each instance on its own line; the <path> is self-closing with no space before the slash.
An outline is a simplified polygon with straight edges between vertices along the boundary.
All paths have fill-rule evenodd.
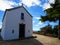
<path id="1" fill-rule="evenodd" d="M 40 41 L 35 38 L 13 40 L 13 41 L 0 41 L 0 45 L 43 45 Z"/>

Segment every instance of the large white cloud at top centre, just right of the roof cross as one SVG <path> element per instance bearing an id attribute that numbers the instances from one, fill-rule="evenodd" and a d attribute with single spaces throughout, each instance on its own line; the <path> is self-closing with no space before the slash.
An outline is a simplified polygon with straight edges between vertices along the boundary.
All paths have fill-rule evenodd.
<path id="1" fill-rule="evenodd" d="M 35 6 L 35 5 L 40 5 L 40 0 L 21 0 L 24 5 L 27 7 Z"/>

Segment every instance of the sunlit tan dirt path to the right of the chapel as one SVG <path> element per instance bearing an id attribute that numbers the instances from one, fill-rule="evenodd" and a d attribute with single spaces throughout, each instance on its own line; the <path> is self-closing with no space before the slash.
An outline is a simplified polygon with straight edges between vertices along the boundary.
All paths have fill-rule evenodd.
<path id="1" fill-rule="evenodd" d="M 36 40 L 41 42 L 43 45 L 60 45 L 60 40 L 54 37 L 48 37 L 43 35 L 34 34 L 37 36 Z"/>

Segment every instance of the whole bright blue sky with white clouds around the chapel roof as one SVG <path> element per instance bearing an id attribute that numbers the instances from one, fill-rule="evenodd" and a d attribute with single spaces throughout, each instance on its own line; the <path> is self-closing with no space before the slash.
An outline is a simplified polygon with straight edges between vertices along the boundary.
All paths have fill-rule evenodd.
<path id="1" fill-rule="evenodd" d="M 0 28 L 2 27 L 2 18 L 5 9 L 21 6 L 22 3 L 24 7 L 29 11 L 29 13 L 33 16 L 33 31 L 39 31 L 40 28 L 48 25 L 48 23 L 52 26 L 58 25 L 58 21 L 39 21 L 41 15 L 46 15 L 46 12 L 44 12 L 44 10 L 50 8 L 50 3 L 54 3 L 54 0 L 0 0 Z"/>

